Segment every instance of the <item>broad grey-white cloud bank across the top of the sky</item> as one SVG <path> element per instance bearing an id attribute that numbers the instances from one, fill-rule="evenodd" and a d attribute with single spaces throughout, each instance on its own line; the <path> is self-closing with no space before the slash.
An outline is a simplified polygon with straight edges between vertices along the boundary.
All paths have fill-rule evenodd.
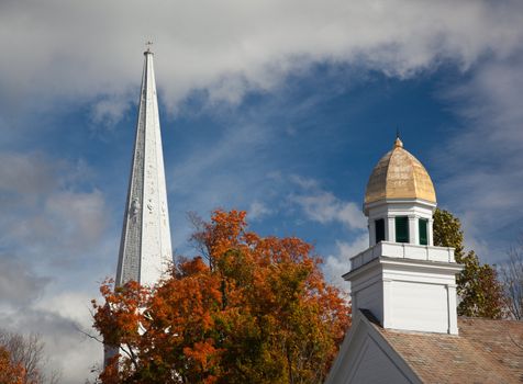
<path id="1" fill-rule="evenodd" d="M 501 3 L 8 0 L 0 4 L 0 47 L 9 57 L 0 64 L 0 100 L 29 98 L 41 108 L 99 95 L 129 101 L 146 39 L 155 41 L 171 106 L 194 89 L 237 102 L 316 61 L 399 77 L 446 60 L 469 68 L 486 53 L 505 57 L 520 46 L 523 5 Z M 111 104 L 94 104 L 94 117 L 115 118 L 126 103 Z"/>

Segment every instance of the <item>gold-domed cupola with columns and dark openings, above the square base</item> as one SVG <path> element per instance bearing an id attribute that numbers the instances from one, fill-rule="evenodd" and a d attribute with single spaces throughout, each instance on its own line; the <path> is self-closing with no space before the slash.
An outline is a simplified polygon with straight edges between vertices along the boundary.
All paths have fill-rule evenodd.
<path id="1" fill-rule="evenodd" d="M 376 165 L 365 191 L 370 246 L 379 241 L 431 246 L 436 192 L 425 167 L 396 138 Z"/>

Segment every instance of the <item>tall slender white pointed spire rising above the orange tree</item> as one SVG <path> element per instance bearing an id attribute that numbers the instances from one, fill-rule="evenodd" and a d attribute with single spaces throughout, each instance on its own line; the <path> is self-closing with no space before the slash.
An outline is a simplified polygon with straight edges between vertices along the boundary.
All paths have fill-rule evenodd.
<path id="1" fill-rule="evenodd" d="M 116 285 L 155 284 L 173 261 L 158 100 L 148 44 L 123 218 Z"/>

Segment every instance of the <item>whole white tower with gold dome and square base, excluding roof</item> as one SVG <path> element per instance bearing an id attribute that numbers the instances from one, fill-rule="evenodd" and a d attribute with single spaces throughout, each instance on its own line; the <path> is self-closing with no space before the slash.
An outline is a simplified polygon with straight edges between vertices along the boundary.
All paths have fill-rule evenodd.
<path id="1" fill-rule="evenodd" d="M 383 328 L 457 335 L 454 249 L 433 246 L 436 194 L 423 165 L 398 137 L 370 174 L 364 213 L 369 248 L 350 258 L 354 313 Z"/>

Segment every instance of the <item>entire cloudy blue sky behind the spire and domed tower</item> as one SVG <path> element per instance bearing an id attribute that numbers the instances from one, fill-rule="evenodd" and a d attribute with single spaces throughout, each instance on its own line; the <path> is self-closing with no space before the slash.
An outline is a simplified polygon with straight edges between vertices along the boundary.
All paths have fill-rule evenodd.
<path id="1" fill-rule="evenodd" d="M 144 43 L 154 41 L 178 253 L 188 212 L 248 211 L 338 284 L 368 176 L 399 127 L 485 262 L 523 224 L 523 2 L 0 1 L 0 327 L 40 332 L 64 383 L 101 348 Z"/>

